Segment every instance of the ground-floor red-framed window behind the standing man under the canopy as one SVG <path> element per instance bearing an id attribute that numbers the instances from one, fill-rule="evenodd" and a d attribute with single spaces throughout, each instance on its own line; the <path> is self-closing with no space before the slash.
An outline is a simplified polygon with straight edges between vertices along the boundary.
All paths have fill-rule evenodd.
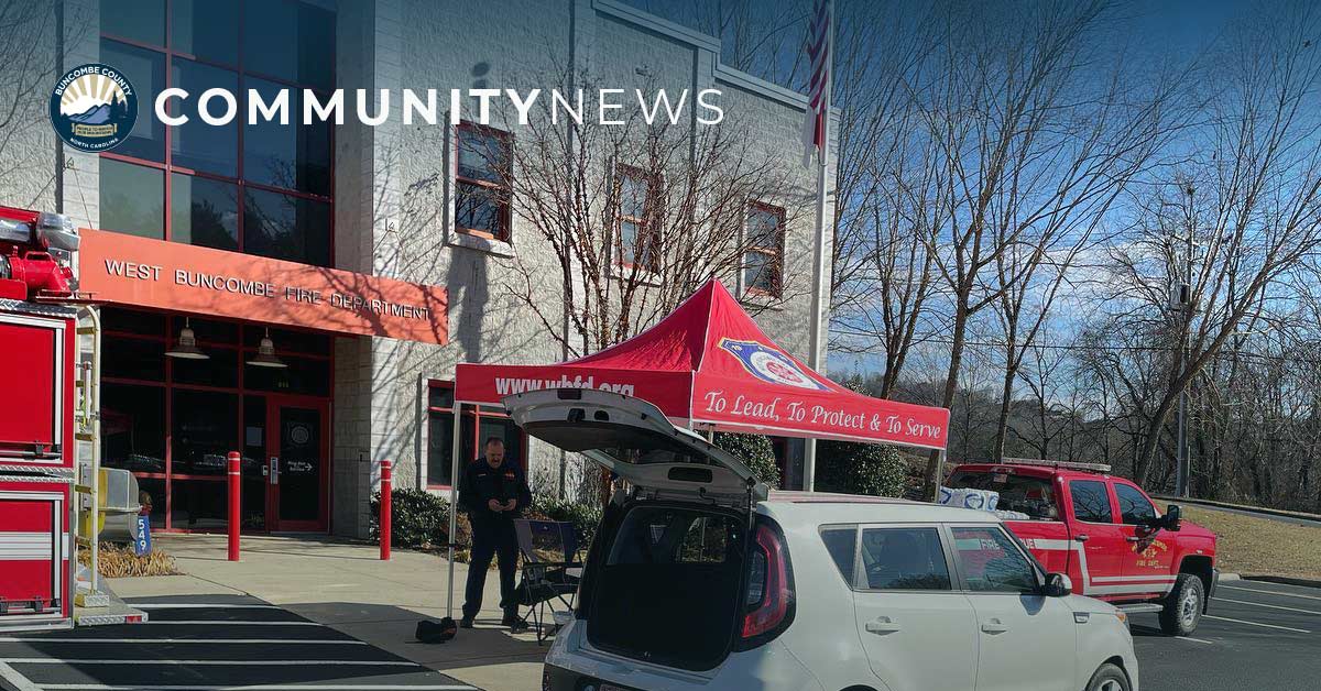
<path id="1" fill-rule="evenodd" d="M 505 460 L 514 461 L 527 470 L 527 436 L 505 408 L 491 406 L 462 406 L 460 415 L 460 468 L 485 452 L 486 440 L 498 437 L 505 441 Z M 454 384 L 452 382 L 431 382 L 427 391 L 427 486 L 448 488 L 453 482 L 452 461 L 454 452 Z"/>

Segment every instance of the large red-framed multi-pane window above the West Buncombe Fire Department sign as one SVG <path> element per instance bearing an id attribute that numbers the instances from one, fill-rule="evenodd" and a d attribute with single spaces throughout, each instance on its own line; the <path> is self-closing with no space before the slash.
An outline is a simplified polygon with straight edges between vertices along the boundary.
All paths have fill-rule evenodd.
<path id="1" fill-rule="evenodd" d="M 128 77 L 143 108 L 165 89 L 193 94 L 168 104 L 188 123 L 139 118 L 122 145 L 100 155 L 100 227 L 332 266 L 332 127 L 242 118 L 210 126 L 197 95 L 229 90 L 240 114 L 250 92 L 271 103 L 287 90 L 291 114 L 301 112 L 305 90 L 326 100 L 336 82 L 334 12 L 293 0 L 100 4 L 102 59 Z"/>

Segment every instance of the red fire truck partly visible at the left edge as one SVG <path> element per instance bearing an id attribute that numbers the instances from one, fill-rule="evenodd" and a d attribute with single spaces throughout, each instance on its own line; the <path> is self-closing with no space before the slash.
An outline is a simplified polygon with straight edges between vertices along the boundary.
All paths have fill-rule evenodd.
<path id="1" fill-rule="evenodd" d="M 0 206 L 0 630 L 73 624 L 77 234 Z"/>

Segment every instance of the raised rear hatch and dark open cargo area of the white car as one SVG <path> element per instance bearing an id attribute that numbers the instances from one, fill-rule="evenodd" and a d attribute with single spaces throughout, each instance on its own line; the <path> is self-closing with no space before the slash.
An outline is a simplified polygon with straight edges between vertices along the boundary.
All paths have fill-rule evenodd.
<path id="1" fill-rule="evenodd" d="M 645 400 L 568 388 L 503 403 L 528 435 L 633 485 L 608 507 L 588 556 L 577 616 L 592 646 L 692 671 L 719 666 L 745 613 L 750 511 L 766 485 Z"/>

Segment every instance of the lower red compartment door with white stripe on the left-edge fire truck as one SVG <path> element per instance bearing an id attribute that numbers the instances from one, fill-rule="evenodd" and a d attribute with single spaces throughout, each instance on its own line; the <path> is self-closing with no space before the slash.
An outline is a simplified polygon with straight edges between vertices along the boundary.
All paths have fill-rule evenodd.
<path id="1" fill-rule="evenodd" d="M 12 617 L 61 610 L 63 503 L 62 497 L 0 491 L 0 628 Z"/>

